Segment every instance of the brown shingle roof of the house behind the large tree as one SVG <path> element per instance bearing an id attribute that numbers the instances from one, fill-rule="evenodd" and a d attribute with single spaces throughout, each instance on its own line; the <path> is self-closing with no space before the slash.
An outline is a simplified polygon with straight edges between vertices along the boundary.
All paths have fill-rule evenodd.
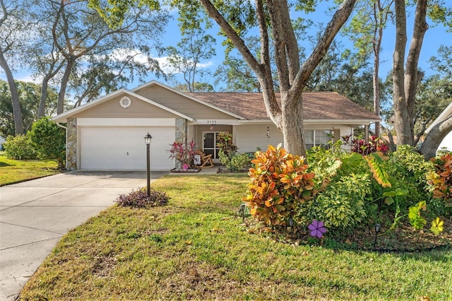
<path id="1" fill-rule="evenodd" d="M 186 93 L 246 119 L 268 119 L 262 93 Z M 278 102 L 280 94 L 276 94 Z M 374 113 L 335 92 L 303 93 L 304 119 L 379 120 Z"/>

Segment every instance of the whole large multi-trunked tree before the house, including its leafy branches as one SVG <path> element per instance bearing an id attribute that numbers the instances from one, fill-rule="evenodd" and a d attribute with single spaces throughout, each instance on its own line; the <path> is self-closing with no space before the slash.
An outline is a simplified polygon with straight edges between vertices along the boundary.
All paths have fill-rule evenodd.
<path id="1" fill-rule="evenodd" d="M 303 138 L 303 98 L 302 91 L 312 71 L 319 64 L 329 45 L 333 41 L 342 25 L 350 16 L 356 0 L 344 0 L 343 4 L 334 13 L 331 21 L 326 25 L 326 30 L 321 35 L 311 55 L 303 63 L 299 59 L 299 45 L 294 27 L 292 26 L 291 10 L 287 1 L 283 0 L 256 0 L 255 4 L 249 1 L 192 1 L 174 0 L 171 4 L 178 8 L 179 14 L 184 14 L 182 28 L 200 28 L 200 8 L 204 8 L 208 16 L 220 26 L 222 34 L 227 37 L 230 48 L 234 46 L 242 54 L 251 70 L 256 73 L 261 86 L 264 105 L 268 116 L 273 123 L 283 132 L 284 145 L 288 151 L 297 155 L 305 154 Z M 100 13 L 105 12 L 119 17 L 122 11 L 127 11 L 134 6 L 147 3 L 155 5 L 156 1 L 128 1 L 127 4 L 112 4 L 104 7 L 99 1 L 91 0 Z M 201 2 L 201 6 L 200 3 Z M 314 11 L 314 1 L 309 3 L 299 2 L 298 11 Z M 181 19 L 179 19 L 181 20 Z M 121 23 L 119 23 L 121 24 Z M 251 29 L 258 28 L 260 33 L 261 50 L 258 57 L 251 53 L 244 42 L 244 35 Z M 273 57 L 278 70 L 279 91 L 281 93 L 281 105 L 275 96 L 273 83 L 273 69 L 270 64 L 270 45 L 275 49 Z"/>

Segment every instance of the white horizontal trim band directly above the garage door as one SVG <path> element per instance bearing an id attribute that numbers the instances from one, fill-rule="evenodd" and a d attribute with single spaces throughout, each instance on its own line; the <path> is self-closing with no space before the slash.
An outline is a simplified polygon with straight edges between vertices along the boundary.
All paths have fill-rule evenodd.
<path id="1" fill-rule="evenodd" d="M 77 126 L 174 126 L 175 118 L 78 118 Z"/>

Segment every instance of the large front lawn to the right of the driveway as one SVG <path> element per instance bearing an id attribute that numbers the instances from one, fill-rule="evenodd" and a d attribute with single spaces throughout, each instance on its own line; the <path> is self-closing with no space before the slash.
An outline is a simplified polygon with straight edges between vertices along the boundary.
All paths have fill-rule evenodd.
<path id="1" fill-rule="evenodd" d="M 452 250 L 294 246 L 237 216 L 244 175 L 174 176 L 151 209 L 112 206 L 71 230 L 21 300 L 452 300 Z"/>

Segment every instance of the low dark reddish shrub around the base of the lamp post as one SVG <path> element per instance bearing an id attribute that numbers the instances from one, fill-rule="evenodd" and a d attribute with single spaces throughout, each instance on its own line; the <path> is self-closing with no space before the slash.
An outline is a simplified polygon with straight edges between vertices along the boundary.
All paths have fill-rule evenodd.
<path id="1" fill-rule="evenodd" d="M 129 194 L 121 194 L 115 200 L 119 206 L 129 206 L 133 208 L 150 208 L 156 206 L 164 206 L 168 203 L 169 197 L 165 192 L 157 191 L 150 188 L 150 196 L 148 196 L 146 187 L 132 191 Z"/>

